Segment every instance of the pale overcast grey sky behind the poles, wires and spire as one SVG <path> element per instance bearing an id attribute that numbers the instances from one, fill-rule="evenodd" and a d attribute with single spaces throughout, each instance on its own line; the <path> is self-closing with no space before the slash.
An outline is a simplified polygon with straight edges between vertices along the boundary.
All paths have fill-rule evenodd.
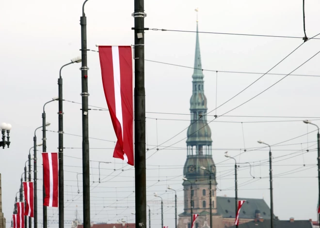
<path id="1" fill-rule="evenodd" d="M 14 198 L 19 190 L 20 175 L 32 147 L 33 131 L 41 126 L 42 106 L 58 93 L 57 78 L 62 65 L 80 55 L 80 15 L 82 1 L 23 1 L 1 2 L 1 112 L 0 122 L 9 122 L 12 144 L 10 149 L 1 150 L 0 173 L 2 174 L 3 212 L 11 221 Z M 249 33 L 303 37 L 302 0 L 161 0 L 145 1 L 146 28 L 195 30 L 199 7 L 199 30 L 228 33 Z M 312 37 L 319 30 L 320 3 L 317 0 L 306 2 L 306 33 Z M 88 48 L 100 45 L 132 45 L 133 40 L 133 0 L 105 1 L 90 0 L 86 4 Z M 215 71 L 267 72 L 277 62 L 299 46 L 302 39 L 250 37 L 236 35 L 199 34 L 204 69 Z M 163 61 L 193 67 L 195 33 L 153 31 L 145 32 L 145 59 Z M 311 40 L 295 51 L 272 73 L 288 74 L 297 66 L 320 51 L 320 40 Z M 295 74 L 320 75 L 320 56 L 308 61 Z M 101 81 L 98 54 L 88 53 L 89 104 L 107 107 Z M 70 65 L 63 70 L 64 99 L 81 102 L 80 65 Z M 208 98 L 208 111 L 216 106 L 216 73 L 204 72 L 205 94 Z M 260 75 L 233 74 L 218 72 L 217 103 L 237 94 Z M 248 90 L 218 108 L 217 115 L 231 110 L 244 101 L 268 88 L 282 76 L 264 76 Z M 232 116 L 286 116 L 303 118 L 254 118 L 219 117 L 209 124 L 212 131 L 213 159 L 217 164 L 218 187 L 224 191 L 218 196 L 234 197 L 234 175 L 230 172 L 232 160 L 225 160 L 224 152 L 239 155 L 244 148 L 259 147 L 256 140 L 262 139 L 276 144 L 316 130 L 307 127 L 301 120 L 304 117 L 320 117 L 319 77 L 288 76 L 270 90 L 247 104 L 228 113 Z M 189 113 L 189 100 L 192 94 L 192 69 L 145 62 L 145 88 L 147 113 L 147 143 L 163 143 L 185 129 L 189 124 L 186 115 L 162 113 Z M 64 103 L 64 132 L 81 135 L 81 112 L 79 104 Z M 46 107 L 48 130 L 58 130 L 58 103 Z M 215 114 L 215 111 L 211 113 Z M 158 138 L 157 122 L 158 119 Z M 209 116 L 208 120 L 214 117 Z M 178 119 L 169 121 L 160 119 Z M 310 119 L 310 118 L 309 118 Z M 320 118 L 311 118 L 320 119 Z M 186 120 L 186 121 L 182 121 Z M 260 122 L 298 120 L 298 122 Z M 300 120 L 300 121 L 299 121 Z M 228 121 L 228 122 L 227 122 Z M 235 123 L 237 122 L 237 123 Z M 241 124 L 241 122 L 243 122 Z M 251 122 L 251 123 L 247 123 Z M 259 122 L 259 123 L 257 123 Z M 315 121 L 315 123 L 320 123 Z M 243 133 L 242 134 L 242 126 Z M 115 141 L 115 135 L 107 111 L 90 111 L 89 136 Z M 244 141 L 243 141 L 244 135 Z M 274 156 L 274 213 L 280 219 L 309 219 L 317 217 L 318 182 L 316 132 L 273 147 Z M 37 132 L 38 142 L 41 131 Z M 164 225 L 174 227 L 174 195 L 166 192 L 167 185 L 177 190 L 178 213 L 183 212 L 182 167 L 186 160 L 186 131 L 163 144 L 178 147 L 166 150 L 150 150 L 147 157 L 147 200 L 152 211 L 152 225 L 160 226 L 160 202 L 153 197 L 158 192 L 164 199 Z M 55 152 L 58 147 L 57 133 L 47 133 L 47 151 Z M 303 144 L 302 144 L 303 143 Z M 245 144 L 245 146 L 244 146 Z M 295 145 L 288 145 L 295 144 Z M 81 137 L 64 135 L 64 175 L 65 175 L 65 219 L 75 218 L 78 205 L 82 217 L 82 195 L 77 193 L 77 173 L 81 172 Z M 128 219 L 134 222 L 134 169 L 121 160 L 112 158 L 114 143 L 90 139 L 91 181 L 91 220 L 115 222 Z M 154 146 L 148 146 L 149 149 Z M 301 151 L 303 149 L 303 152 Z M 309 149 L 310 152 L 306 152 Z M 249 149 L 248 149 L 249 151 Z M 296 152 L 296 153 L 294 153 Z M 291 154 L 294 153 L 294 154 Z M 291 154 L 291 155 L 288 155 Z M 288 155 L 284 157 L 279 157 Z M 297 155 L 297 156 L 295 156 Z M 41 157 L 40 152 L 38 156 Z M 295 156 L 295 157 L 293 157 Z M 266 149 L 245 152 L 237 156 L 240 162 L 254 162 L 268 159 Z M 38 176 L 42 176 L 42 160 L 38 160 Z M 98 181 L 98 162 L 101 180 Z M 256 177 L 250 180 L 249 171 L 240 168 L 239 197 L 264 198 L 270 205 L 268 164 L 256 166 L 252 171 Z M 304 166 L 305 165 L 305 166 Z M 131 168 L 131 169 L 130 169 Z M 115 169 L 115 170 L 114 170 Z M 122 171 L 124 169 L 124 171 Z M 280 174 L 282 174 L 280 176 Z M 277 175 L 279 175 L 277 177 Z M 220 177 L 220 179 L 219 179 Z M 246 179 L 244 179 L 246 178 Z M 79 175 L 79 180 L 82 177 Z M 243 186 L 241 185 L 243 183 Z M 41 180 L 38 188 L 41 190 Z M 42 192 L 38 192 L 39 219 L 42 219 Z M 117 199 L 117 201 L 115 200 Z M 117 207 L 112 208 L 112 207 Z M 48 210 L 48 219 L 57 219 L 56 209 Z M 128 216 L 128 217 L 126 217 Z M 57 224 L 49 224 L 57 227 Z M 9 227 L 9 224 L 7 224 Z M 65 225 L 69 227 L 69 225 Z"/>

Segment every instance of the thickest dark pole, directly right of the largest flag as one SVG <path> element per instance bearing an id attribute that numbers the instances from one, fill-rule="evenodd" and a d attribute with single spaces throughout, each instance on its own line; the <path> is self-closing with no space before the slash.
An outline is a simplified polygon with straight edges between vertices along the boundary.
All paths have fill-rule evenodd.
<path id="1" fill-rule="evenodd" d="M 134 0 L 134 136 L 136 228 L 146 224 L 144 0 Z M 163 219 L 162 227 L 163 228 Z"/>

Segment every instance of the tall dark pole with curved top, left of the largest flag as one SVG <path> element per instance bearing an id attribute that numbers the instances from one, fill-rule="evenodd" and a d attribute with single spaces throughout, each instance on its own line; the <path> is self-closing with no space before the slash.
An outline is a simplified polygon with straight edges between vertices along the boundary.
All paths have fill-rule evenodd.
<path id="1" fill-rule="evenodd" d="M 88 66 L 87 66 L 87 17 L 82 5 L 81 25 L 81 97 L 82 97 L 82 178 L 83 178 L 83 228 L 90 228 L 90 169 L 88 130 Z M 145 208 L 144 208 L 145 210 Z"/>

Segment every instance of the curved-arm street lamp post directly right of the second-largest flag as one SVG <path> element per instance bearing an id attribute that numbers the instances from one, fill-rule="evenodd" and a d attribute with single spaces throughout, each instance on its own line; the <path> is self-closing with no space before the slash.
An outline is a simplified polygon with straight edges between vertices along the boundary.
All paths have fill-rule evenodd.
<path id="1" fill-rule="evenodd" d="M 61 76 L 62 69 L 72 63 L 81 62 L 81 57 L 73 58 L 69 63 L 64 64 L 60 68 L 58 78 L 58 133 L 59 133 L 59 145 L 58 145 L 58 157 L 59 157 L 59 228 L 64 228 L 64 111 L 63 111 L 63 81 Z"/>

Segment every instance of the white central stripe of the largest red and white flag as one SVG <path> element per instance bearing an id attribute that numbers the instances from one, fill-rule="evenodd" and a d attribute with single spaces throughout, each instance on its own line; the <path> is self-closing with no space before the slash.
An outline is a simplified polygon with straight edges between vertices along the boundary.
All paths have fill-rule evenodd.
<path id="1" fill-rule="evenodd" d="M 119 46 L 112 46 L 112 64 L 113 64 L 113 84 L 114 84 L 114 101 L 115 101 L 115 116 L 121 125 L 122 141 L 123 138 L 123 118 L 122 118 L 122 103 L 121 103 L 121 80 L 120 80 L 120 59 Z M 124 161 L 128 163 L 128 157 L 124 152 Z"/>

